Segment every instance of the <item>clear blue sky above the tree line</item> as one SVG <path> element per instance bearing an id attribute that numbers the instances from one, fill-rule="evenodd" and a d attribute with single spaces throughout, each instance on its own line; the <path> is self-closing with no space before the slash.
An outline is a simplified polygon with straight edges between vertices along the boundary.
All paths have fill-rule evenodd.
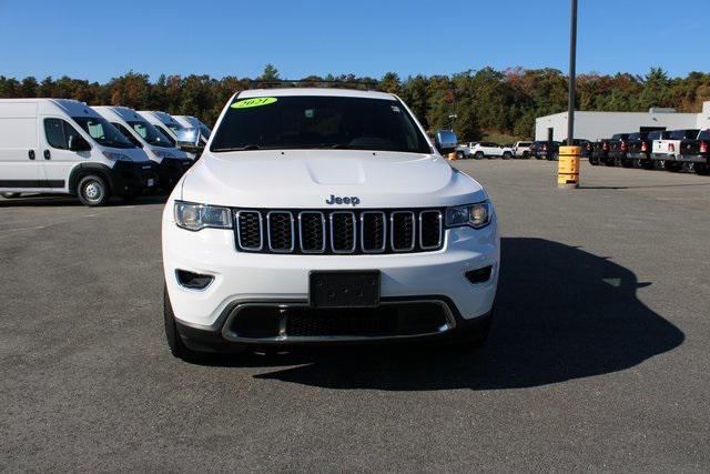
<path id="1" fill-rule="evenodd" d="M 710 0 L 579 3 L 578 71 L 710 70 Z M 568 16 L 569 0 L 0 0 L 0 74 L 254 77 L 267 62 L 284 78 L 567 71 Z"/>

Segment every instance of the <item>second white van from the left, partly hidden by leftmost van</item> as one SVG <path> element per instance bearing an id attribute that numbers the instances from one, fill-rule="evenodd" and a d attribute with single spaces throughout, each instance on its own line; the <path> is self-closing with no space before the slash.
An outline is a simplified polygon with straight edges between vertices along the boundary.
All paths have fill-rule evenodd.
<path id="1" fill-rule="evenodd" d="M 193 163 L 182 150 L 178 150 L 170 140 L 150 122 L 128 107 L 93 107 L 101 117 L 106 119 L 123 135 L 136 147 L 148 153 L 148 158 L 158 165 L 159 185 L 165 191 L 172 191 Z"/>

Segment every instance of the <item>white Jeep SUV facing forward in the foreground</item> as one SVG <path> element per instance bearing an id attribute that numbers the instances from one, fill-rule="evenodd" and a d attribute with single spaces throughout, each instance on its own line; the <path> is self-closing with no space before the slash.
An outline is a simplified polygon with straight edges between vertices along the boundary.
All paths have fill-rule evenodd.
<path id="1" fill-rule="evenodd" d="M 434 339 L 476 346 L 500 259 L 486 191 L 389 93 L 248 90 L 163 213 L 172 353 Z"/>

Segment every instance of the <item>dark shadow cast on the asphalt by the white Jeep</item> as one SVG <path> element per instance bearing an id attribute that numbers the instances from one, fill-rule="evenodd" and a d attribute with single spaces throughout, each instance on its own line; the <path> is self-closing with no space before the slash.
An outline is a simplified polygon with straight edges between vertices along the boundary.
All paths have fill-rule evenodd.
<path id="1" fill-rule="evenodd" d="M 539 386 L 632 367 L 677 347 L 683 333 L 636 296 L 628 269 L 542 239 L 503 239 L 497 313 L 479 352 L 444 347 L 339 347 L 219 365 L 328 389 L 497 390 Z"/>

